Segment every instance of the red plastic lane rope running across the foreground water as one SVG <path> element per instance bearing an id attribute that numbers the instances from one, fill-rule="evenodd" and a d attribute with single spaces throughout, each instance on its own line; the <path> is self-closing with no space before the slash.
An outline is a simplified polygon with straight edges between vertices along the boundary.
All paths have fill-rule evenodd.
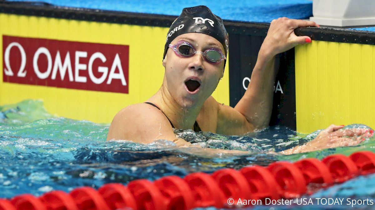
<path id="1" fill-rule="evenodd" d="M 214 206 L 233 208 L 228 198 L 278 200 L 297 198 L 334 183 L 375 173 L 375 154 L 354 152 L 349 157 L 329 155 L 323 160 L 305 158 L 295 163 L 277 161 L 268 167 L 249 166 L 240 170 L 220 169 L 212 175 L 191 173 L 184 178 L 164 176 L 151 182 L 133 180 L 124 186 L 109 183 L 91 187 L 47 192 L 40 197 L 22 194 L 10 200 L 0 198 L 0 210 L 189 210 Z"/>

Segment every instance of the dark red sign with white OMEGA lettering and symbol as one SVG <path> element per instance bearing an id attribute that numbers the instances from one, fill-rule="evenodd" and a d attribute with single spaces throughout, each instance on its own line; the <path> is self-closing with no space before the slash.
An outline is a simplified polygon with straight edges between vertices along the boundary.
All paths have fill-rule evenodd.
<path id="1" fill-rule="evenodd" d="M 3 81 L 129 93 L 129 46 L 3 35 Z"/>

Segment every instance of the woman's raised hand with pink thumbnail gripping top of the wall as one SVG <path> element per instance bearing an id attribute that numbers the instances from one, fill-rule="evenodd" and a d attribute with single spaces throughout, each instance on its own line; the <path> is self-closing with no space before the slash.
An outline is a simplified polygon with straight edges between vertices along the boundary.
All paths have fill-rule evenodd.
<path id="1" fill-rule="evenodd" d="M 313 21 L 303 21 L 285 17 L 274 19 L 263 41 L 260 53 L 265 53 L 270 59 L 278 53 L 292 49 L 297 44 L 310 43 L 310 37 L 298 37 L 294 34 L 296 28 L 302 27 L 319 27 L 319 25 Z"/>

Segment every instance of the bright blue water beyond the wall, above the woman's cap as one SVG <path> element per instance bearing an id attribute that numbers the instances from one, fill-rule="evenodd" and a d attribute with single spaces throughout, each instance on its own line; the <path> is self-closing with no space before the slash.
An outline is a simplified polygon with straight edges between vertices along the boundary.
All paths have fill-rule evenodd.
<path id="1" fill-rule="evenodd" d="M 17 0 L 11 0 L 17 1 Z M 27 0 L 33 1 L 33 0 Z M 35 2 L 35 1 L 34 1 Z M 178 16 L 184 7 L 205 5 L 222 19 L 233 21 L 271 22 L 273 19 L 288 17 L 294 19 L 308 19 L 312 16 L 311 0 L 41 0 L 56 6 L 79 7 L 88 9 L 115 10 L 121 12 L 138 12 L 159 15 Z"/>

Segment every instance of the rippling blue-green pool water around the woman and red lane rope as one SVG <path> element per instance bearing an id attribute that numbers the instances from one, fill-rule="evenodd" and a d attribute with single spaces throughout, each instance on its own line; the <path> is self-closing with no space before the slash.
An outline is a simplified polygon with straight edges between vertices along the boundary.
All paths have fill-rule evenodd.
<path id="1" fill-rule="evenodd" d="M 363 125 L 351 125 L 365 127 Z M 196 154 L 194 148 L 177 148 L 158 140 L 148 145 L 130 141 L 106 141 L 109 124 L 78 121 L 49 114 L 41 101 L 27 100 L 0 106 L 0 197 L 18 194 L 36 196 L 52 190 L 71 191 L 79 186 L 100 186 L 135 179 L 155 180 L 166 175 L 185 176 L 192 172 L 212 173 L 222 168 L 240 169 L 277 160 L 296 161 L 330 154 L 349 155 L 359 150 L 375 152 L 375 141 L 358 146 L 325 149 L 295 155 L 274 155 L 313 139 L 319 131 L 297 135 L 286 127 L 270 127 L 247 136 L 224 136 L 191 130 L 176 135 L 203 147 L 239 149 L 248 155 Z M 315 192 L 307 198 L 355 198 L 375 200 L 375 175 L 359 176 L 345 183 Z M 374 202 L 375 203 L 375 202 Z M 319 209 L 351 209 L 350 205 L 319 206 Z M 357 206 L 372 209 L 372 206 Z M 215 208 L 206 208 L 213 210 Z M 257 206 L 254 209 L 270 209 Z M 275 209 L 317 209 L 317 206 L 275 206 Z"/>

